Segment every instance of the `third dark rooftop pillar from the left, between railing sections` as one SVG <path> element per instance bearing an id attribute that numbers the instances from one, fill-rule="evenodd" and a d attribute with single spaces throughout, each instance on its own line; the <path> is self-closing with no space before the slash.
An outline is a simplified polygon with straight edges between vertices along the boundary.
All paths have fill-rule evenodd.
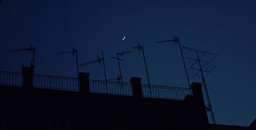
<path id="1" fill-rule="evenodd" d="M 133 96 L 138 98 L 143 97 L 141 89 L 141 78 L 132 77 L 130 82 L 133 88 Z"/>

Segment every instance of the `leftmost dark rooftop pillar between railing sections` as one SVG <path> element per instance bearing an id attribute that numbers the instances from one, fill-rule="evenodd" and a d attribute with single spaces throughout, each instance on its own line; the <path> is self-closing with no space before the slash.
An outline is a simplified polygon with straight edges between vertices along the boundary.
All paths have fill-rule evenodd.
<path id="1" fill-rule="evenodd" d="M 33 67 L 22 66 L 23 87 L 26 89 L 33 88 Z"/>

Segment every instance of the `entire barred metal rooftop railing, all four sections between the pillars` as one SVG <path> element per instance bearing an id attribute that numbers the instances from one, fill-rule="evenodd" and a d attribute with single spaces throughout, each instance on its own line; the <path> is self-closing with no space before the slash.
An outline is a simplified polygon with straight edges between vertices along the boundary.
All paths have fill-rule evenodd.
<path id="1" fill-rule="evenodd" d="M 91 93 L 133 96 L 132 84 L 89 80 Z M 0 71 L 0 85 L 23 86 L 23 74 Z M 33 87 L 39 89 L 64 90 L 79 92 L 79 78 L 33 74 Z M 191 95 L 191 89 L 173 86 L 141 84 L 143 97 L 183 100 Z M 151 93 L 150 93 L 151 92 Z"/>

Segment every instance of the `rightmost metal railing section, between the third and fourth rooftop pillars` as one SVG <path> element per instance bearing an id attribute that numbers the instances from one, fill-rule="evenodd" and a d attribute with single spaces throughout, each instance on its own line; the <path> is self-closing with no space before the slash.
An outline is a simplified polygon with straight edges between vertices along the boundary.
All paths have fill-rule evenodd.
<path id="1" fill-rule="evenodd" d="M 143 97 L 183 100 L 186 95 L 191 95 L 189 88 L 174 86 L 160 86 L 141 84 Z M 150 93 L 151 89 L 151 93 Z"/>

